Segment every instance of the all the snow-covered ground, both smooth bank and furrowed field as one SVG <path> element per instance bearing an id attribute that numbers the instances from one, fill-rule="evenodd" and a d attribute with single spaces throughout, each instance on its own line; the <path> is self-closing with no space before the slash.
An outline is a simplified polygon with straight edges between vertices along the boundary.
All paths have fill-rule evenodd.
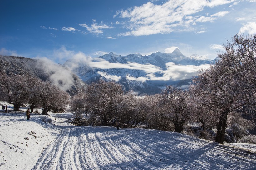
<path id="1" fill-rule="evenodd" d="M 67 122 L 71 113 L 32 114 L 26 121 L 22 109 L 24 113 L 0 112 L 1 170 L 256 167 L 255 145 L 221 145 L 150 129 L 73 126 Z"/>

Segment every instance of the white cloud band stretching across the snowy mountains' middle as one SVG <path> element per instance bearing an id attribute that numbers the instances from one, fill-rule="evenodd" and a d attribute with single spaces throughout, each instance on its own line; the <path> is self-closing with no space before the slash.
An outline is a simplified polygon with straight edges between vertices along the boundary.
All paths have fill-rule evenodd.
<path id="1" fill-rule="evenodd" d="M 127 80 L 145 82 L 145 81 L 179 81 L 191 79 L 196 76 L 200 69 L 209 67 L 208 64 L 201 65 L 182 65 L 173 62 L 165 63 L 165 68 L 155 66 L 153 64 L 140 64 L 136 62 L 113 63 L 103 58 L 91 58 L 84 53 L 75 54 L 72 59 L 65 62 L 65 66 L 71 70 L 81 71 L 81 68 L 96 69 L 97 74 L 107 79 L 119 81 L 122 77 Z M 119 75 L 118 71 L 121 75 Z M 108 72 L 111 70 L 110 72 Z M 130 75 L 132 73 L 136 75 Z M 128 74 L 128 75 L 127 75 Z"/>

